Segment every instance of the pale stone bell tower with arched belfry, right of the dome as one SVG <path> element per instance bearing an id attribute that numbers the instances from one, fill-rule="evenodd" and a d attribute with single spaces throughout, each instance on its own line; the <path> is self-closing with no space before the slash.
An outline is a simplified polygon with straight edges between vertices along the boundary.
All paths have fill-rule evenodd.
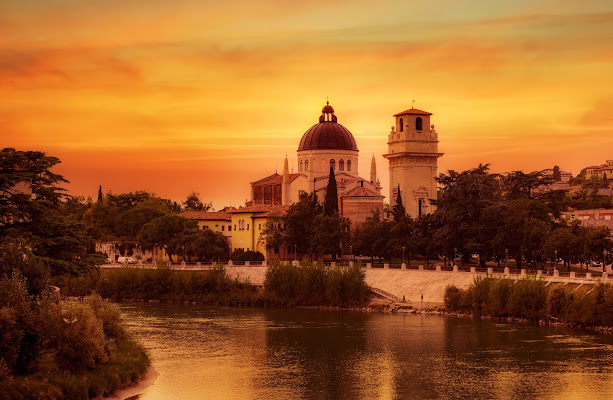
<path id="1" fill-rule="evenodd" d="M 390 205 L 396 202 L 398 190 L 407 214 L 417 218 L 430 214 L 436 200 L 438 174 L 438 134 L 430 125 L 426 111 L 411 108 L 394 115 L 396 123 L 388 136 L 388 154 L 383 157 L 389 161 Z"/>

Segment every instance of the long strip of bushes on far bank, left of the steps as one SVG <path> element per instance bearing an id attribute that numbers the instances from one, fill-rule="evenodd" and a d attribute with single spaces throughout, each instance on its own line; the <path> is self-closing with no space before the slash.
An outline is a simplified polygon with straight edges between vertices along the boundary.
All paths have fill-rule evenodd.
<path id="1" fill-rule="evenodd" d="M 123 267 L 99 275 L 54 281 L 66 296 L 96 292 L 113 300 L 196 302 L 250 306 L 353 306 L 370 294 L 365 273 L 358 267 L 325 267 L 318 262 L 272 263 L 266 270 L 264 291 L 248 281 L 232 278 L 223 266 L 207 271 L 176 271 Z"/>

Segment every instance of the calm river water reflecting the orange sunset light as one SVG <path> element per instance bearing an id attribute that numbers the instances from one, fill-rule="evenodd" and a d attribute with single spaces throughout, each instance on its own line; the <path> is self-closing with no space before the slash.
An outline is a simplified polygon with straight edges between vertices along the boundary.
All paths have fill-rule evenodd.
<path id="1" fill-rule="evenodd" d="M 613 336 L 430 315 L 122 304 L 139 400 L 613 399 Z"/>

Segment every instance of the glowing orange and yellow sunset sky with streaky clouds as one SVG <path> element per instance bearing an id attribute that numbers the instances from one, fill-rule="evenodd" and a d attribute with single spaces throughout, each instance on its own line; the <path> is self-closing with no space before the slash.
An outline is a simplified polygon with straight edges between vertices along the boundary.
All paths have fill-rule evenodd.
<path id="1" fill-rule="evenodd" d="M 72 194 L 243 204 L 326 96 L 385 195 L 413 99 L 439 172 L 577 174 L 613 158 L 613 2 L 0 0 L 0 145 L 59 157 Z"/>

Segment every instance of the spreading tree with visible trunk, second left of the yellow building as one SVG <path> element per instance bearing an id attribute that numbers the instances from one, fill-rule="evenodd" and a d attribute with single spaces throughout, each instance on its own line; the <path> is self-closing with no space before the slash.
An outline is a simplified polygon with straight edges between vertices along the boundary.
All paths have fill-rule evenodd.
<path id="1" fill-rule="evenodd" d="M 172 262 L 172 255 L 177 254 L 176 248 L 172 247 L 177 235 L 186 229 L 197 228 L 198 223 L 194 220 L 168 214 L 143 225 L 136 239 L 143 249 L 152 249 L 154 246 L 164 248 Z"/>

